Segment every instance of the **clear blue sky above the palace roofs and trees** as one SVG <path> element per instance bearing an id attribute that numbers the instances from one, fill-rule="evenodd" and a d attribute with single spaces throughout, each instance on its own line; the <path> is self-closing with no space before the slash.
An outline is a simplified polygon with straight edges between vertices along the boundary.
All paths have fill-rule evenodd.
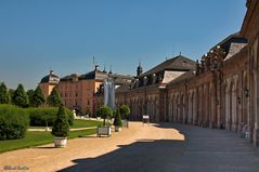
<path id="1" fill-rule="evenodd" d="M 0 81 L 35 89 L 53 69 L 64 77 L 103 68 L 135 75 L 166 57 L 197 59 L 241 29 L 245 0 L 1 0 Z"/>

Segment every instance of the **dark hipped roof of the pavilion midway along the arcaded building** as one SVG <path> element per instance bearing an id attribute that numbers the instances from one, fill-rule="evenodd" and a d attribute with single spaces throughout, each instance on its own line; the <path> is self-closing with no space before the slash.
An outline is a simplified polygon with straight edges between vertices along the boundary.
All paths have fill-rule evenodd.
<path id="1" fill-rule="evenodd" d="M 169 58 L 169 59 L 163 62 L 161 64 L 155 66 L 154 68 L 150 69 L 148 71 L 138 76 L 138 78 L 157 74 L 163 70 L 187 71 L 187 70 L 194 69 L 194 68 L 195 68 L 194 61 L 192 61 L 183 55 L 179 55 L 179 56 L 176 56 L 176 57 L 172 57 L 172 58 Z"/>

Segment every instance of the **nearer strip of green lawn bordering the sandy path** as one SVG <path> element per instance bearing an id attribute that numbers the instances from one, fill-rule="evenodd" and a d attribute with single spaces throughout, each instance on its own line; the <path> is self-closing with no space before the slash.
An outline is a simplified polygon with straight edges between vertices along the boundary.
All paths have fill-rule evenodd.
<path id="1" fill-rule="evenodd" d="M 70 131 L 68 138 L 75 138 L 95 133 L 96 133 L 95 129 Z M 54 136 L 51 135 L 50 132 L 27 132 L 26 136 L 22 140 L 0 141 L 0 153 L 44 145 L 53 142 Z"/>

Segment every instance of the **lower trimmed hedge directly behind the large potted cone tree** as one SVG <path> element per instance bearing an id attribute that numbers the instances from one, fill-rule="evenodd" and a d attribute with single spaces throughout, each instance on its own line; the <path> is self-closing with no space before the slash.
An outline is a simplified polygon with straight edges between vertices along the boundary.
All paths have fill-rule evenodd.
<path id="1" fill-rule="evenodd" d="M 39 108 L 28 108 L 27 109 L 30 119 L 31 127 L 52 127 L 55 119 L 56 114 L 59 111 L 57 107 L 39 107 Z M 72 110 L 66 108 L 66 114 L 68 117 L 69 125 L 73 125 L 74 115 Z"/>

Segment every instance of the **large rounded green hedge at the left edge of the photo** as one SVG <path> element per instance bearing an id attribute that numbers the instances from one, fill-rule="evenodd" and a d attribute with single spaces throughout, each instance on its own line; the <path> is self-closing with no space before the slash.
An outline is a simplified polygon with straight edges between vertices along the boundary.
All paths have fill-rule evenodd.
<path id="1" fill-rule="evenodd" d="M 0 105 L 0 140 L 25 137 L 28 123 L 26 110 L 13 105 Z"/>

